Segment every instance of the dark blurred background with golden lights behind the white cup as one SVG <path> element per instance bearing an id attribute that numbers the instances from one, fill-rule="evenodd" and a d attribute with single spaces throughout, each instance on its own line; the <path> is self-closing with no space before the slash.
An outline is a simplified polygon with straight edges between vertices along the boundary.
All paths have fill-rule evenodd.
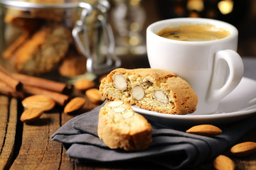
<path id="1" fill-rule="evenodd" d="M 214 18 L 239 31 L 238 53 L 256 57 L 255 0 L 112 0 L 117 55 L 145 55 L 146 27 L 167 18 Z"/>

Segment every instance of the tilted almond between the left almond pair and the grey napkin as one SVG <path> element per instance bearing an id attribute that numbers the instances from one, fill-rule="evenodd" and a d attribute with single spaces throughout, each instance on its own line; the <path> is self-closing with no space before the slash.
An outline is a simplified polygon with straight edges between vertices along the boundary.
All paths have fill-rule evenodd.
<path id="1" fill-rule="evenodd" d="M 75 97 L 64 108 L 64 113 L 73 113 L 78 111 L 85 104 L 85 98 Z"/>

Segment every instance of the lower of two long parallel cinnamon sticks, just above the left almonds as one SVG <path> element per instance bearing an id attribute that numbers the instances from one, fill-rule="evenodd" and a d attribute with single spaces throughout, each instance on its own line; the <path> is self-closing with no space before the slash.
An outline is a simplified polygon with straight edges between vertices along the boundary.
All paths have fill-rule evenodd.
<path id="1" fill-rule="evenodd" d="M 41 89 L 36 86 L 30 86 L 27 84 L 23 84 L 23 91 L 26 94 L 42 94 L 50 98 L 53 98 L 53 100 L 56 103 L 58 103 L 60 106 L 65 106 L 65 104 L 68 102 L 68 99 L 69 99 L 69 96 L 65 94 L 60 94 L 55 91 L 48 91 L 46 89 Z"/>

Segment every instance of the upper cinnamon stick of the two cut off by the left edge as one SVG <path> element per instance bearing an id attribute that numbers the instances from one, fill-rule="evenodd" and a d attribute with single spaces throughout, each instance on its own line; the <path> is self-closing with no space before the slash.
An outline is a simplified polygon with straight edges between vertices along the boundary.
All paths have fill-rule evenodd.
<path id="1" fill-rule="evenodd" d="M 7 86 L 11 87 L 11 89 L 15 89 L 16 91 L 21 91 L 22 84 L 20 81 L 12 77 L 11 73 L 9 73 L 4 67 L 0 66 L 0 80 L 3 81 Z"/>

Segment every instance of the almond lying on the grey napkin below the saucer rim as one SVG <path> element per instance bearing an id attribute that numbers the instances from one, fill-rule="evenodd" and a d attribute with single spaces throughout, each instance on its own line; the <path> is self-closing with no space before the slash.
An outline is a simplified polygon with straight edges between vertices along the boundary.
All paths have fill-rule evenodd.
<path id="1" fill-rule="evenodd" d="M 220 135 L 222 130 L 214 125 L 196 125 L 192 128 L 186 130 L 188 133 L 196 134 L 196 135 L 203 135 L 203 136 L 215 136 Z"/>

